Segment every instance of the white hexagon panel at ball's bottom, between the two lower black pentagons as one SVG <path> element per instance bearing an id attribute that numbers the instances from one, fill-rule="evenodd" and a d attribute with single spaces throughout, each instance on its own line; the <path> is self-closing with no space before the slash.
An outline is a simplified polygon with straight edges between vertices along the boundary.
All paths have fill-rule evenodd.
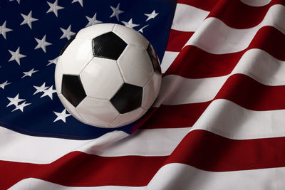
<path id="1" fill-rule="evenodd" d="M 110 127 L 109 124 L 119 115 L 109 100 L 92 97 L 84 98 L 76 107 L 76 111 L 89 125 L 97 127 Z"/>

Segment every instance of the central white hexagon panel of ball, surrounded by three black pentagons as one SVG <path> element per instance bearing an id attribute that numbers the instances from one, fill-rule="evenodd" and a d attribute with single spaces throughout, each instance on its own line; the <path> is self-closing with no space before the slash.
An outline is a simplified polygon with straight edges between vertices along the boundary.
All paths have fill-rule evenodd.
<path id="1" fill-rule="evenodd" d="M 124 83 L 117 62 L 106 58 L 93 58 L 80 77 L 86 95 L 99 99 L 110 100 Z"/>

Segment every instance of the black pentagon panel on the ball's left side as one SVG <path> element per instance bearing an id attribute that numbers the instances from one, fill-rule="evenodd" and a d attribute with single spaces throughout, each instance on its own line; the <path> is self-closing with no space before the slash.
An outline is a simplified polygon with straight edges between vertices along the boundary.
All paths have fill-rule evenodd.
<path id="1" fill-rule="evenodd" d="M 79 75 L 63 75 L 61 93 L 74 107 L 86 97 Z"/>

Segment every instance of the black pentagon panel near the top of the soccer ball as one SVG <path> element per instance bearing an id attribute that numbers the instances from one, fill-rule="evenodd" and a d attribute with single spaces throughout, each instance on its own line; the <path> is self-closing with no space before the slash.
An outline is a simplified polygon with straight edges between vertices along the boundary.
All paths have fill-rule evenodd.
<path id="1" fill-rule="evenodd" d="M 92 40 L 93 56 L 117 60 L 127 43 L 113 32 L 104 33 Z"/>

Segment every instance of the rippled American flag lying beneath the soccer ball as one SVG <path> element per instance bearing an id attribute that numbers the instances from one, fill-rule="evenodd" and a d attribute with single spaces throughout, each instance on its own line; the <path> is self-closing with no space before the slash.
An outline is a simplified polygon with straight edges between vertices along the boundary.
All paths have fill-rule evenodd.
<path id="1" fill-rule="evenodd" d="M 59 51 L 96 23 L 162 60 L 142 119 L 83 125 L 54 87 Z M 0 189 L 285 189 L 284 0 L 1 0 Z"/>

